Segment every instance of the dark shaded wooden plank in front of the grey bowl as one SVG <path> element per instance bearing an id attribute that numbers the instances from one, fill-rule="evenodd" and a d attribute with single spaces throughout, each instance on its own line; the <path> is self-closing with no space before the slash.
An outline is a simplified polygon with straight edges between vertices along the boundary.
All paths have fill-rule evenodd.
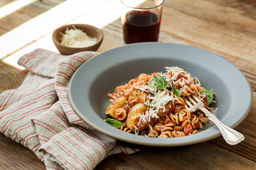
<path id="1" fill-rule="evenodd" d="M 227 164 L 232 162 L 232 164 Z M 254 161 L 209 142 L 183 148 L 141 149 L 136 154 L 111 155 L 95 169 L 254 169 Z"/>

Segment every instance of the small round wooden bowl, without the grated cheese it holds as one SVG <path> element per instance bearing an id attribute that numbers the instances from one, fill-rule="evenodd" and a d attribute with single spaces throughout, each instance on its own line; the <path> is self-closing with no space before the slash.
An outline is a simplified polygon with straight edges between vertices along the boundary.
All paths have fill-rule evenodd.
<path id="1" fill-rule="evenodd" d="M 76 27 L 80 30 L 86 32 L 86 34 L 91 38 L 97 38 L 97 42 L 94 45 L 83 47 L 83 48 L 72 48 L 68 46 L 61 45 L 61 33 L 65 34 L 66 28 Z M 74 53 L 83 52 L 83 51 L 97 51 L 101 42 L 103 40 L 103 32 L 99 30 L 99 28 L 90 26 L 87 24 L 69 24 L 62 27 L 59 27 L 52 33 L 52 41 L 54 41 L 54 45 L 59 50 L 62 55 L 73 55 Z"/>

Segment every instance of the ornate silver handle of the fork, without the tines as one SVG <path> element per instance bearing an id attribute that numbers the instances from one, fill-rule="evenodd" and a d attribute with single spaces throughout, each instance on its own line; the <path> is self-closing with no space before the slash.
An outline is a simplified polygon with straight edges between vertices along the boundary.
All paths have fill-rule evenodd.
<path id="1" fill-rule="evenodd" d="M 219 131 L 221 131 L 223 138 L 228 144 L 234 145 L 244 140 L 244 135 L 230 128 L 229 126 L 222 124 L 222 122 L 219 121 L 218 118 L 214 114 L 210 113 L 206 108 L 200 107 L 199 109 L 203 111 L 208 116 L 209 120 L 214 122 L 214 124 L 219 128 Z"/>

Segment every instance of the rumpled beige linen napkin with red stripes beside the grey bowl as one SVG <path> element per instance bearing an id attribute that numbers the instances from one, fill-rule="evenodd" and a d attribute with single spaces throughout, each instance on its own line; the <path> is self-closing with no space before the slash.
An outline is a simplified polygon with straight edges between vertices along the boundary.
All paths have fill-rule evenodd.
<path id="1" fill-rule="evenodd" d="M 47 169 L 93 169 L 108 155 L 138 151 L 88 126 L 69 102 L 74 71 L 97 54 L 35 49 L 18 61 L 29 70 L 23 84 L 0 95 L 0 132 L 32 150 Z"/>

